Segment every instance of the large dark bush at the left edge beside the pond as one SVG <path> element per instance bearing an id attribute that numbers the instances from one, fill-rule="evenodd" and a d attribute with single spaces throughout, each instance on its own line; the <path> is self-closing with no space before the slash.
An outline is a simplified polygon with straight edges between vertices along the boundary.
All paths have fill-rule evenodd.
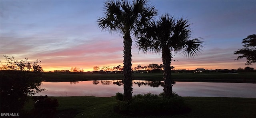
<path id="1" fill-rule="evenodd" d="M 1 70 L 1 112 L 19 112 L 28 96 L 43 91 L 41 74 L 29 71 Z"/>

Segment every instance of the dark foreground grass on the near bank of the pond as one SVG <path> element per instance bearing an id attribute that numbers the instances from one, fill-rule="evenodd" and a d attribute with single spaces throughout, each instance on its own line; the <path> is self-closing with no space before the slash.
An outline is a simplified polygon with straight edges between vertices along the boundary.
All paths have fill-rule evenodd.
<path id="1" fill-rule="evenodd" d="M 114 112 L 115 97 L 50 97 L 59 106 L 55 118 L 130 118 Z M 255 118 L 256 98 L 183 97 L 191 112 L 172 118 Z M 30 110 L 32 102 L 24 110 Z M 138 117 L 141 118 L 141 117 Z M 170 118 L 147 116 L 143 118 Z"/>

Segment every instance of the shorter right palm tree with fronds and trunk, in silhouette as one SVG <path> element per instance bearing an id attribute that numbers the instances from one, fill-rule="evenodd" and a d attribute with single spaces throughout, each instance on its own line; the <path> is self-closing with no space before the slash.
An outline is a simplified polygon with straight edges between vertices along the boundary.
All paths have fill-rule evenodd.
<path id="1" fill-rule="evenodd" d="M 171 60 L 172 51 L 182 52 L 184 55 L 194 57 L 202 49 L 200 38 L 191 38 L 188 20 L 175 19 L 174 16 L 163 14 L 159 20 L 153 20 L 141 31 L 136 42 L 139 50 L 161 52 L 164 64 L 164 95 L 172 96 Z"/>

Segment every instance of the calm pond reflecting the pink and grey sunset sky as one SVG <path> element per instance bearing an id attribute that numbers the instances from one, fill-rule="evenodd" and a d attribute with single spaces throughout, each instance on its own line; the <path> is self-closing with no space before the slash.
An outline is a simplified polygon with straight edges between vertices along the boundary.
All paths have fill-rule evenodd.
<path id="1" fill-rule="evenodd" d="M 133 95 L 141 93 L 160 94 L 162 81 L 133 80 Z M 80 82 L 42 82 L 41 88 L 47 91 L 36 94 L 48 96 L 115 96 L 123 93 L 122 80 L 94 80 Z M 242 97 L 256 98 L 256 84 L 214 83 L 214 82 L 176 82 L 173 91 L 180 96 L 202 97 Z"/>

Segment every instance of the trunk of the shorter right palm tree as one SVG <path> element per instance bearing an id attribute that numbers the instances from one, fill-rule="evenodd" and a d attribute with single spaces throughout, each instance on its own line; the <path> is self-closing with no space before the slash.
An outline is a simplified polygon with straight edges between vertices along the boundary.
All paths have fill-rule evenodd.
<path id="1" fill-rule="evenodd" d="M 172 96 L 171 51 L 168 47 L 162 48 L 162 62 L 164 64 L 164 95 Z"/>

